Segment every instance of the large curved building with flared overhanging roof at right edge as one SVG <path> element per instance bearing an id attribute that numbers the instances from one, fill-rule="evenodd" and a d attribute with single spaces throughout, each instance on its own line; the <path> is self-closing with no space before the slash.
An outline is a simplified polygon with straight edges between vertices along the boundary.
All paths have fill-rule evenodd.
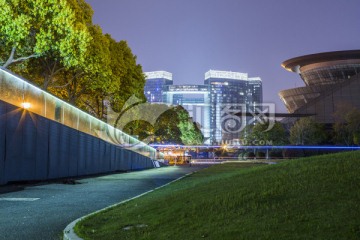
<path id="1" fill-rule="evenodd" d="M 290 113 L 311 114 L 318 122 L 333 123 L 340 103 L 360 109 L 360 50 L 325 52 L 282 63 L 298 73 L 304 87 L 279 92 Z"/>

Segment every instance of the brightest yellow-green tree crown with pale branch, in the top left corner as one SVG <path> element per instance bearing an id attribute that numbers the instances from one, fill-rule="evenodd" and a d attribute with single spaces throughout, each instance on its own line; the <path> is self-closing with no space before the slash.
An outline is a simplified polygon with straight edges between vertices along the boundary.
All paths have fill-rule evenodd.
<path id="1" fill-rule="evenodd" d="M 65 67 L 85 62 L 91 8 L 83 0 L 0 0 L 0 61 L 4 68 L 35 57 Z M 79 14 L 84 12 L 86 18 Z"/>

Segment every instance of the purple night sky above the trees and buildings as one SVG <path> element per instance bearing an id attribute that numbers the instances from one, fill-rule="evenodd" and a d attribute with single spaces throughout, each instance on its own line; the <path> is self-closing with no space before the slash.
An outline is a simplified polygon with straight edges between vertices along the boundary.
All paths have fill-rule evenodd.
<path id="1" fill-rule="evenodd" d="M 264 102 L 303 86 L 283 61 L 360 49 L 359 0 L 86 0 L 94 23 L 126 40 L 144 71 L 173 73 L 174 84 L 202 84 L 206 71 L 263 80 Z"/>

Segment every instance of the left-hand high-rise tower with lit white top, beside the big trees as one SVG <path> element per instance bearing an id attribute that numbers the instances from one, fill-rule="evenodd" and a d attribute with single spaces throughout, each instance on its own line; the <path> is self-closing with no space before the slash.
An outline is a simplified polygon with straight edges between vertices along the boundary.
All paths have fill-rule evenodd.
<path id="1" fill-rule="evenodd" d="M 172 85 L 172 73 L 166 71 L 145 72 L 144 93 L 149 103 L 163 103 L 163 89 Z"/>

